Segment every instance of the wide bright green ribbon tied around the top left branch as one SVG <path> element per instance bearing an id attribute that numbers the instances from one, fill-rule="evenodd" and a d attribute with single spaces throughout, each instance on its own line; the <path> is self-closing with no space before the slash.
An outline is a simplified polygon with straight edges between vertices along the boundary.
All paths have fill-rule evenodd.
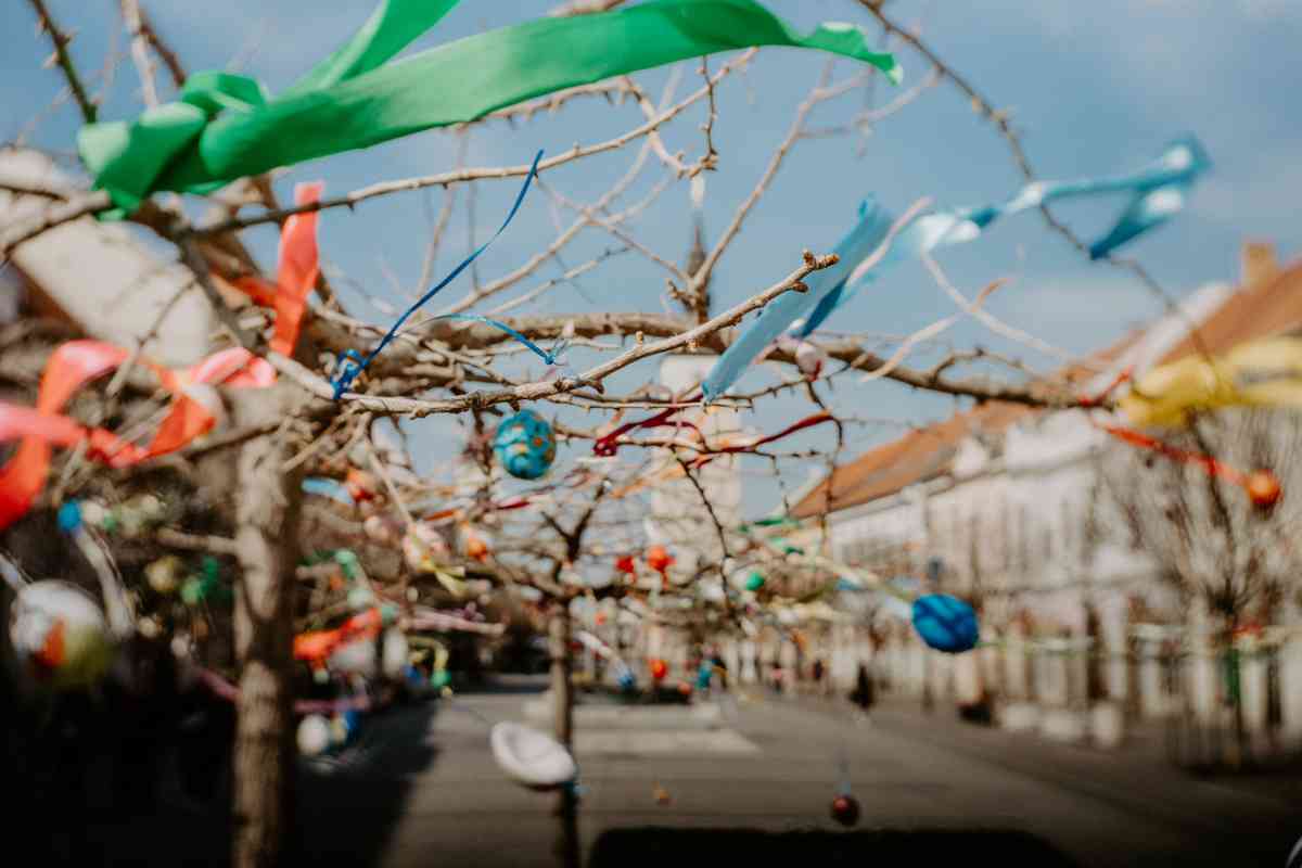
<path id="1" fill-rule="evenodd" d="M 866 34 L 828 22 L 801 35 L 754 0 L 650 0 L 542 18 L 389 62 L 457 0 L 381 0 L 342 48 L 277 98 L 258 81 L 191 75 L 174 103 L 135 121 L 87 124 L 77 148 L 122 217 L 156 190 L 204 194 L 281 165 L 365 148 L 566 87 L 751 46 L 844 55 L 901 78 Z"/>

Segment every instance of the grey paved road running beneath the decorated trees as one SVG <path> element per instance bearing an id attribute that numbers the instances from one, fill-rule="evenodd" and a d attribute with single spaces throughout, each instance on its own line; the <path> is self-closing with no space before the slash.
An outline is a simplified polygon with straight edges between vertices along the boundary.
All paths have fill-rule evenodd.
<path id="1" fill-rule="evenodd" d="M 303 864 L 557 865 L 552 796 L 503 778 L 487 726 L 526 720 L 526 692 L 391 716 L 366 761 L 314 773 Z M 578 737 L 589 863 L 1284 865 L 1302 802 L 1130 768 L 1092 751 L 887 709 L 756 699 L 716 730 L 605 720 Z M 863 817 L 828 816 L 845 774 Z M 654 798 L 656 787 L 668 804 Z M 1285 790 L 1286 793 L 1286 790 Z M 654 829 L 654 830 L 652 830 Z M 725 830 L 762 830 L 737 834 Z"/>

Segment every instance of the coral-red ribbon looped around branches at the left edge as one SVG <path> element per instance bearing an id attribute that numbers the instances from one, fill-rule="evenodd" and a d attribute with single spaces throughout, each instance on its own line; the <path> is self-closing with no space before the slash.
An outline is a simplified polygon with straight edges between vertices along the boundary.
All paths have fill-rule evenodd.
<path id="1" fill-rule="evenodd" d="M 301 183 L 294 190 L 299 204 L 315 202 L 320 193 L 319 182 Z M 307 294 L 316 282 L 316 215 L 303 213 L 285 221 L 276 284 L 254 277 L 237 281 L 236 285 L 256 303 L 276 310 L 271 340 L 273 350 L 293 354 Z M 158 376 L 160 385 L 172 393 L 172 406 L 147 446 L 124 441 L 103 428 L 87 428 L 61 415 L 78 389 L 120 367 L 130 355 L 128 350 L 103 341 L 68 341 L 46 362 L 35 409 L 0 403 L 0 441 L 22 437 L 17 453 L 0 467 L 0 530 L 25 515 L 36 501 L 46 485 L 52 446 L 69 448 L 85 441 L 87 455 L 92 459 L 111 467 L 135 465 L 176 452 L 212 429 L 216 418 L 210 407 L 190 394 L 191 385 L 262 389 L 276 381 L 276 370 L 266 359 L 238 346 L 214 353 L 180 371 L 142 360 Z"/>

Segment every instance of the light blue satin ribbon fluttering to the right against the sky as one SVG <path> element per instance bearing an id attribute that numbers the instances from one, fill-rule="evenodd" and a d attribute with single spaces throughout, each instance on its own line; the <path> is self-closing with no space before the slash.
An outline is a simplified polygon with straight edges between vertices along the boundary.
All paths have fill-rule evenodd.
<path id="1" fill-rule="evenodd" d="M 798 337 L 810 336 L 833 310 L 896 263 L 923 256 L 937 247 L 974 241 L 1000 217 L 1057 199 L 1130 193 L 1130 202 L 1113 228 L 1090 246 L 1090 258 L 1101 259 L 1178 213 L 1189 190 L 1210 165 L 1198 139 L 1186 135 L 1172 142 L 1160 157 L 1131 174 L 1081 181 L 1036 181 L 1003 204 L 915 217 L 893 238 L 888 238 L 893 217 L 875 199 L 868 198 L 859 208 L 859 223 L 836 247 L 841 262 L 806 278 L 810 292 L 786 293 L 764 308 L 759 320 L 728 347 L 706 377 L 702 384 L 706 400 L 713 401 L 724 394 L 751 360 L 784 331 L 790 329 Z M 889 247 L 868 260 L 887 241 Z"/>

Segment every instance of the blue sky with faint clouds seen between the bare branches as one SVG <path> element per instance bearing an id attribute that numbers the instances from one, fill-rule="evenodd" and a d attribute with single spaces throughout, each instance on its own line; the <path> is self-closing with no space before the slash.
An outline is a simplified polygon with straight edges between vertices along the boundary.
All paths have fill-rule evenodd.
<path id="1" fill-rule="evenodd" d="M 418 48 L 543 14 L 555 0 L 462 0 Z M 769 8 L 809 26 L 823 20 L 863 23 L 871 17 L 854 0 L 769 0 Z M 64 26 L 76 27 L 74 55 L 81 68 L 96 75 L 109 51 L 122 52 L 116 0 L 51 0 Z M 271 0 L 146 1 L 159 31 L 174 46 L 190 70 L 224 68 L 242 57 L 242 72 L 263 79 L 272 91 L 345 39 L 368 14 L 365 1 L 316 0 L 312 4 Z M 310 12 L 305 12 L 310 9 Z M 1302 224 L 1302 113 L 1297 111 L 1298 65 L 1302 44 L 1302 4 L 1293 0 L 896 0 L 891 14 L 921 23 L 922 34 L 941 57 L 960 70 L 996 105 L 1012 112 L 1025 135 L 1036 170 L 1046 178 L 1112 173 L 1133 168 L 1172 137 L 1195 133 L 1213 160 L 1213 173 L 1195 190 L 1190 208 L 1172 224 L 1131 245 L 1125 252 L 1141 259 L 1172 294 L 1182 295 L 1207 281 L 1233 280 L 1238 249 L 1246 238 L 1273 241 L 1282 258 L 1298 255 Z M 33 144 L 70 152 L 77 115 L 64 104 L 48 112 L 61 88 L 56 69 L 42 69 L 48 44 L 34 35 L 26 4 L 0 4 L 0 138 L 12 141 L 29 130 Z M 116 34 L 116 35 L 115 35 Z M 906 82 L 923 78 L 926 62 L 896 47 Z M 717 60 L 712 61 L 717 65 Z M 720 117 L 715 142 L 720 168 L 707 183 L 707 230 L 717 233 L 745 198 L 781 139 L 796 105 L 818 78 L 825 57 L 811 52 L 763 49 L 745 78 L 728 81 L 719 92 Z M 695 64 L 684 70 L 680 94 L 694 88 Z M 838 77 L 852 72 L 837 64 Z M 659 90 L 667 70 L 638 75 Z M 99 85 L 96 83 L 96 87 Z M 168 91 L 164 90 L 164 94 Z M 891 95 L 878 82 L 878 99 Z M 814 125 L 844 120 L 863 105 L 857 92 L 824 105 Z M 104 118 L 138 112 L 138 81 L 129 60 L 118 65 L 105 94 Z M 30 129 L 29 120 L 42 115 Z M 514 128 L 490 122 L 469 143 L 475 165 L 523 163 L 542 147 L 560 151 L 574 142 L 596 142 L 639 122 L 631 105 L 611 108 L 587 102 L 557 117 Z M 667 128 L 671 148 L 699 154 L 693 111 Z M 340 193 L 384 178 L 434 173 L 450 167 L 456 144 L 449 133 L 432 131 L 362 154 L 346 154 L 296 167 L 277 180 L 288 198 L 294 181 L 322 177 Z M 572 164 L 547 174 L 557 190 L 591 200 L 624 172 L 634 151 Z M 629 195 L 638 198 L 661 177 L 651 168 Z M 1018 185 L 1013 161 L 993 129 L 980 122 L 963 98 L 941 85 L 901 113 L 883 121 L 867 139 L 832 138 L 802 143 L 790 156 L 764 203 L 746 223 L 723 260 L 715 280 L 720 303 L 738 301 L 789 272 L 799 251 L 828 251 L 854 220 L 858 202 L 876 194 L 896 210 L 922 195 L 937 204 L 980 204 L 1003 198 Z M 496 228 L 516 181 L 480 185 L 477 202 L 479 238 Z M 441 193 L 428 197 L 437 210 Z M 687 185 L 677 183 L 635 224 L 641 239 L 681 260 L 689 238 L 685 223 Z M 1085 237 L 1104 230 L 1116 202 L 1064 206 L 1059 215 Z M 561 215 L 565 220 L 569 215 Z M 413 289 L 424 250 L 423 194 L 408 194 L 366 204 L 355 213 L 329 213 L 322 225 L 327 256 L 375 295 L 401 306 L 392 278 Z M 273 259 L 275 233 L 255 230 L 250 239 L 263 262 Z M 534 194 L 510 230 L 480 260 L 491 278 L 518 265 L 549 241 L 548 199 Z M 458 215 L 440 255 L 440 269 L 469 241 L 465 216 Z M 577 264 L 615 242 L 587 230 L 566 255 Z M 974 293 L 990 280 L 1010 276 L 988 310 L 1039 337 L 1072 351 L 1105 345 L 1128 328 L 1155 316 L 1160 303 L 1126 275 L 1085 262 L 1034 213 L 1001 223 L 978 243 L 945 251 L 941 263 L 954 282 Z M 555 276 L 551 271 L 543 277 Z M 581 281 L 587 298 L 562 286 L 533 306 L 535 312 L 587 310 L 660 310 L 663 272 L 635 256 L 622 255 Z M 526 286 L 533 284 L 526 284 Z M 445 290 L 441 303 L 462 292 L 465 281 Z M 353 312 L 379 323 L 384 316 L 358 298 Z M 892 272 L 837 316 L 837 331 L 900 334 L 948 315 L 953 306 L 921 268 Z M 1030 364 L 1048 368 L 1053 360 L 1010 347 L 974 324 L 948 336 L 954 345 L 1012 349 Z M 922 355 L 919 363 L 926 363 Z M 626 372 L 615 384 L 631 387 L 655 375 L 654 364 Z M 746 384 L 760 384 L 764 372 Z M 954 403 L 918 396 L 889 383 L 865 387 L 842 379 L 835 392 L 848 414 L 889 418 L 906 423 L 943 418 Z M 775 429 L 807 414 L 809 406 L 784 398 L 747 418 L 758 429 Z M 595 423 L 596 416 L 591 416 Z M 422 463 L 427 467 L 454 450 L 460 427 L 448 419 L 411 427 Z M 852 431 L 855 452 L 898 433 L 896 427 Z M 801 445 L 827 445 L 827 432 L 811 432 Z M 562 450 L 561 461 L 574 455 Z M 756 465 L 755 470 L 760 470 Z M 793 466 L 789 481 L 798 484 L 809 467 Z M 756 478 L 747 497 L 755 511 L 767 509 L 776 487 Z"/>

